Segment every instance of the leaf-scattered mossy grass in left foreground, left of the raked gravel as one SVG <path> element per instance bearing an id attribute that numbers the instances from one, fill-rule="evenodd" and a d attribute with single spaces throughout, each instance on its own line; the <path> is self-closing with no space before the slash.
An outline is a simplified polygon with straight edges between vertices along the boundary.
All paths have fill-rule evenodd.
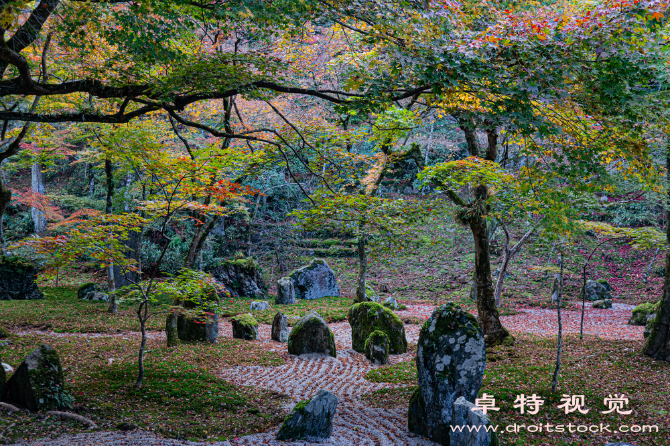
<path id="1" fill-rule="evenodd" d="M 213 345 L 166 348 L 164 341 L 152 339 L 140 389 L 134 386 L 139 346 L 136 336 L 12 336 L 12 344 L 0 352 L 2 360 L 16 368 L 42 343 L 59 352 L 67 388 L 76 399 L 74 411 L 93 419 L 103 430 L 114 430 L 125 423 L 166 437 L 223 440 L 267 430 L 285 416 L 284 396 L 234 386 L 216 377 L 221 367 L 283 363 L 277 354 L 254 343 L 220 338 Z M 43 414 L 0 417 L 0 442 L 80 431 L 85 428 L 77 423 L 45 419 Z"/>

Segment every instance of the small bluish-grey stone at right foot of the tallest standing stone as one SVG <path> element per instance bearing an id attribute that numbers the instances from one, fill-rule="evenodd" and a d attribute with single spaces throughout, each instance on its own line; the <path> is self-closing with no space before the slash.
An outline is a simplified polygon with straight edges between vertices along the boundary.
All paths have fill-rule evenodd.
<path id="1" fill-rule="evenodd" d="M 462 426 L 462 429 L 451 433 L 450 446 L 494 446 L 498 444 L 495 432 L 488 432 L 485 429 L 485 426 L 491 425 L 491 420 L 481 411 L 473 411 L 474 407 L 474 404 L 462 396 L 454 401 L 451 424 Z M 475 426 L 480 426 L 480 428 Z"/>

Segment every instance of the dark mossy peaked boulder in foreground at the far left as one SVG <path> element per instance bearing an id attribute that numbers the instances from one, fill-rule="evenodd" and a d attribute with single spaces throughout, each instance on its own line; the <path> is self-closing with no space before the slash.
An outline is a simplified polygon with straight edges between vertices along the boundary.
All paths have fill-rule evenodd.
<path id="1" fill-rule="evenodd" d="M 56 350 L 41 345 L 23 360 L 6 384 L 5 400 L 32 411 L 72 405 L 65 391 L 63 368 Z"/>

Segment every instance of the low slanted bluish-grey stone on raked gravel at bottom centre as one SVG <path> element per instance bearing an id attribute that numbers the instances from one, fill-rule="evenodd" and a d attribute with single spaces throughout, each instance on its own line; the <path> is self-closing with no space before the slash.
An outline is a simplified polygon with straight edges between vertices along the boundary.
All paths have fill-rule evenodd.
<path id="1" fill-rule="evenodd" d="M 330 437 L 336 410 L 337 397 L 319 390 L 312 399 L 296 404 L 279 429 L 277 440 L 318 441 Z"/>

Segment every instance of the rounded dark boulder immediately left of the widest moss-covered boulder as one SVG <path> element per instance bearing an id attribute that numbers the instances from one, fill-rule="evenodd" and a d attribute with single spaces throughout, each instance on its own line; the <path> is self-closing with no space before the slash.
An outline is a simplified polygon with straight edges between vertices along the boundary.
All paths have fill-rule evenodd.
<path id="1" fill-rule="evenodd" d="M 335 358 L 335 335 L 321 316 L 309 312 L 293 326 L 288 336 L 288 352 L 292 355 L 321 353 Z"/>

